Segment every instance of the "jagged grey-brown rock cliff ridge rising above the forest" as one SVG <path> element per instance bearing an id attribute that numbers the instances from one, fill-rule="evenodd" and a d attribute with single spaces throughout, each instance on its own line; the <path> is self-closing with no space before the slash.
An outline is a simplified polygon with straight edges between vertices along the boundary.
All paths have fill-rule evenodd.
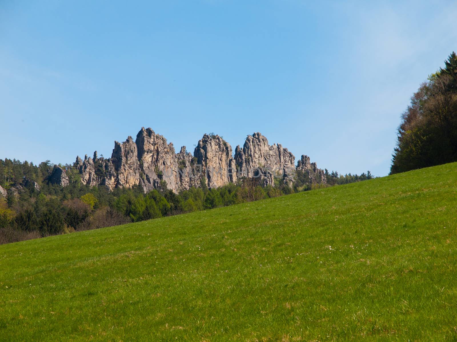
<path id="1" fill-rule="evenodd" d="M 243 148 L 237 146 L 234 156 L 222 137 L 205 134 L 192 155 L 186 152 L 186 146 L 175 153 L 173 143 L 143 127 L 135 141 L 131 136 L 123 143 L 116 141 L 111 158 L 98 158 L 94 152 L 93 158 L 85 155 L 84 161 L 78 156 L 74 167 L 81 182 L 90 186 L 104 185 L 112 190 L 139 184 L 148 192 L 166 182 L 166 187 L 178 193 L 199 187 L 203 177 L 210 188 L 236 182 L 241 177 L 260 177 L 265 186 L 274 186 L 275 178 L 276 183 L 291 185 L 296 170 L 294 161 L 287 148 L 269 145 L 260 133 L 249 135 Z M 308 172 L 312 181 L 325 182 L 324 171 L 310 164 L 308 157 L 302 156 L 297 167 Z"/>

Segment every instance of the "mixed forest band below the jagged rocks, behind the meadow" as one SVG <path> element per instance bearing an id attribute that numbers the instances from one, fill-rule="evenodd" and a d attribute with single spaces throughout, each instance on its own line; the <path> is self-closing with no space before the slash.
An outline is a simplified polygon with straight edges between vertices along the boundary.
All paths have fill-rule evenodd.
<path id="1" fill-rule="evenodd" d="M 200 187 L 179 194 L 162 181 L 159 189 L 148 193 L 141 186 L 132 188 L 90 187 L 81 183 L 71 165 L 66 170 L 69 185 L 61 187 L 47 181 L 52 171 L 50 161 L 34 165 L 16 159 L 0 160 L 0 244 L 74 231 L 96 229 L 139 222 L 186 212 L 194 212 L 236 203 L 257 201 L 312 190 L 363 181 L 371 173 L 339 175 L 325 170 L 327 184 L 313 183 L 306 172 L 298 171 L 292 187 L 276 179 L 274 187 L 261 187 L 258 178 L 244 178 L 238 183 L 209 189 L 206 179 Z"/>

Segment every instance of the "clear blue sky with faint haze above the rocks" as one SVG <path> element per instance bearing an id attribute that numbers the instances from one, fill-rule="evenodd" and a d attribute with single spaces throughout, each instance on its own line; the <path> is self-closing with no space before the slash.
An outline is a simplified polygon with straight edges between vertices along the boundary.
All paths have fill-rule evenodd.
<path id="1" fill-rule="evenodd" d="M 110 156 L 151 127 L 260 131 L 340 173 L 388 174 L 399 117 L 457 50 L 446 1 L 0 1 L 0 158 Z"/>

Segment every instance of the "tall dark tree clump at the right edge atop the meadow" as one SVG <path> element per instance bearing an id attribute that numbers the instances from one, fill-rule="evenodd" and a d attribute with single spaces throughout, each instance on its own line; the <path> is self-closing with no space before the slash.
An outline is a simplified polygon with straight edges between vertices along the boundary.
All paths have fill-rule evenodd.
<path id="1" fill-rule="evenodd" d="M 390 173 L 457 161 L 457 56 L 411 97 L 397 132 Z"/>

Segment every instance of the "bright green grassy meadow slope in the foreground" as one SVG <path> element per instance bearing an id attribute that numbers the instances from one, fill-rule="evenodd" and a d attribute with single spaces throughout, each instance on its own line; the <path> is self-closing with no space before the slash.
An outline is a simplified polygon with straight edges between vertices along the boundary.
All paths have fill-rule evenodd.
<path id="1" fill-rule="evenodd" d="M 456 339 L 456 170 L 0 246 L 0 340 Z"/>

